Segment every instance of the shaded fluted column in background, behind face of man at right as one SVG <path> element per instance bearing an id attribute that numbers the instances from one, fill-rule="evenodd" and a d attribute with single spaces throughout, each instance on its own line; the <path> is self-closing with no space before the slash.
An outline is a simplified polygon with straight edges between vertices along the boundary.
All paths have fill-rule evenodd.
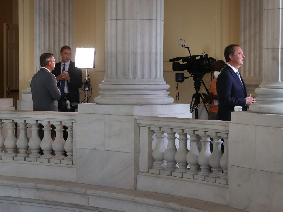
<path id="1" fill-rule="evenodd" d="M 240 1 L 240 42 L 245 54 L 244 64 L 239 69 L 248 94 L 262 81 L 263 72 L 263 0 Z"/>

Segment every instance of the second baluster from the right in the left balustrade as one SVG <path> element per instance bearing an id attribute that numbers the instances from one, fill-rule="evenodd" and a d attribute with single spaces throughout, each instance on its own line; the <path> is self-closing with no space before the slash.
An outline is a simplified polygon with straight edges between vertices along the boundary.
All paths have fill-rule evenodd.
<path id="1" fill-rule="evenodd" d="M 52 148 L 55 152 L 55 156 L 52 157 L 52 159 L 62 160 L 65 158 L 64 154 L 64 144 L 65 140 L 63 138 L 63 126 L 62 122 L 54 122 L 53 125 L 55 125 L 55 131 L 56 131 L 56 137 L 53 141 Z M 55 162 L 52 160 L 52 162 Z M 59 161 L 56 161 L 56 163 L 59 163 Z"/>

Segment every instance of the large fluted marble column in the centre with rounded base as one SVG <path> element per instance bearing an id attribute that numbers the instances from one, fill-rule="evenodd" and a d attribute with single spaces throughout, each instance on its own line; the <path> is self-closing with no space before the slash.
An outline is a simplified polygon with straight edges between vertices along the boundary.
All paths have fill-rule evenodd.
<path id="1" fill-rule="evenodd" d="M 97 104 L 164 105 L 163 0 L 105 0 L 105 78 Z"/>

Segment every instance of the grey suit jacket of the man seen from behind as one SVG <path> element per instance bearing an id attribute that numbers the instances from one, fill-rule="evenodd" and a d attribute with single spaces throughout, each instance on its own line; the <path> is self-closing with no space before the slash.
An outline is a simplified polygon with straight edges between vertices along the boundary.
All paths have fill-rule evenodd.
<path id="1" fill-rule="evenodd" d="M 30 83 L 32 89 L 32 110 L 58 111 L 61 92 L 57 87 L 56 77 L 47 69 L 41 68 Z"/>

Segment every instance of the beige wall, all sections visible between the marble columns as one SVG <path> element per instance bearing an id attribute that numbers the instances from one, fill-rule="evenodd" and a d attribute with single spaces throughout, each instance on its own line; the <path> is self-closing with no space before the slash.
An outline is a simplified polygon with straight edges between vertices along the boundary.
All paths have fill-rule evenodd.
<path id="1" fill-rule="evenodd" d="M 34 1 L 19 1 L 19 74 L 20 92 L 34 72 Z M 239 1 L 235 0 L 164 0 L 164 80 L 170 85 L 170 96 L 176 97 L 175 73 L 170 58 L 188 56 L 178 45 L 186 39 L 192 54 L 203 51 L 215 59 L 223 59 L 224 48 L 239 42 Z M 95 47 L 96 68 L 89 69 L 92 96 L 98 96 L 98 85 L 104 79 L 104 1 L 75 0 L 75 46 Z M 185 75 L 189 76 L 188 73 Z M 83 69 L 85 77 L 85 69 Z M 210 86 L 210 74 L 204 77 Z M 193 80 L 179 84 L 180 102 L 190 103 L 195 92 Z M 202 92 L 203 86 L 202 86 Z M 90 93 L 88 94 L 88 96 Z M 20 93 L 21 97 L 21 93 Z M 82 94 L 81 97 L 84 97 Z"/>

